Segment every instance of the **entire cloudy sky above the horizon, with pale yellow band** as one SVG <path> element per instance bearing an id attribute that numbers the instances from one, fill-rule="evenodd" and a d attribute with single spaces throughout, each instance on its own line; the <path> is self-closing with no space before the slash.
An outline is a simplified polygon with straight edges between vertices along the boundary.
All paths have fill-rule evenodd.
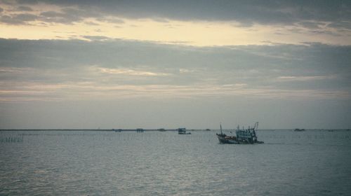
<path id="1" fill-rule="evenodd" d="M 0 0 L 0 129 L 351 128 L 351 1 Z"/>

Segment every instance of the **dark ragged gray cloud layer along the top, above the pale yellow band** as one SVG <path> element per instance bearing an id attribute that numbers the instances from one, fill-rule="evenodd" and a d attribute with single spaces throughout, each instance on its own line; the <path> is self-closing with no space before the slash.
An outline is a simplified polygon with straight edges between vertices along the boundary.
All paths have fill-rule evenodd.
<path id="1" fill-rule="evenodd" d="M 121 18 L 151 18 L 168 20 L 235 21 L 239 27 L 260 25 L 289 25 L 297 34 L 345 36 L 351 28 L 349 1 L 13 1 L 13 6 L 30 10 L 38 3 L 60 7 L 59 11 L 44 11 L 22 18 L 18 13 L 0 16 L 0 22 L 10 25 L 30 25 L 39 22 L 72 24 L 86 18 L 97 21 L 124 23 Z M 22 13 L 22 14 L 23 14 Z M 98 25 L 86 22 L 87 25 Z M 45 25 L 45 23 L 44 23 Z M 116 26 L 119 27 L 119 26 Z M 275 34 L 282 35 L 277 31 Z"/>

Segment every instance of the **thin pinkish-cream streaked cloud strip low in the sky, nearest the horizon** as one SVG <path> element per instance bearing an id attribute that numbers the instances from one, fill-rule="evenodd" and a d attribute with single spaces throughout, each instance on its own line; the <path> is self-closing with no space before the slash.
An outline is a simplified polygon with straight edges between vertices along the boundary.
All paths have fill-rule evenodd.
<path id="1" fill-rule="evenodd" d="M 7 83 L 8 85 L 8 83 Z M 272 87 L 247 87 L 233 85 L 118 85 L 95 83 L 11 83 L 6 90 L 0 84 L 2 101 L 58 101 L 89 99 L 128 99 L 152 97 L 173 99 L 174 97 L 260 97 L 267 99 L 350 99 L 350 92 L 343 90 L 280 90 Z M 244 87 L 244 88 L 243 88 Z"/>

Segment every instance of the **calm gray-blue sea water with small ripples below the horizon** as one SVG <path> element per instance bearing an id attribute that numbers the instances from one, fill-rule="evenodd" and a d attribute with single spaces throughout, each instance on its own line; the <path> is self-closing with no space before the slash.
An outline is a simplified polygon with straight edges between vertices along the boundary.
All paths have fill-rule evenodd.
<path id="1" fill-rule="evenodd" d="M 0 138 L 0 195 L 351 195 L 347 131 L 259 131 L 254 145 L 218 144 L 214 131 Z"/>

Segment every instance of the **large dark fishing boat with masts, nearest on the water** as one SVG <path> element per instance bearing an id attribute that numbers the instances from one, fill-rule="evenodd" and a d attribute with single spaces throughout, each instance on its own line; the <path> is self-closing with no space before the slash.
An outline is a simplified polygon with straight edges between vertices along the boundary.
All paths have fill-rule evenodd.
<path id="1" fill-rule="evenodd" d="M 256 136 L 256 130 L 258 128 L 258 122 L 255 123 L 253 128 L 245 130 L 244 127 L 240 130 L 239 125 L 235 130 L 235 136 L 227 136 L 223 134 L 222 125 L 220 125 L 220 134 L 217 134 L 220 144 L 263 144 L 263 141 L 258 141 Z"/>

